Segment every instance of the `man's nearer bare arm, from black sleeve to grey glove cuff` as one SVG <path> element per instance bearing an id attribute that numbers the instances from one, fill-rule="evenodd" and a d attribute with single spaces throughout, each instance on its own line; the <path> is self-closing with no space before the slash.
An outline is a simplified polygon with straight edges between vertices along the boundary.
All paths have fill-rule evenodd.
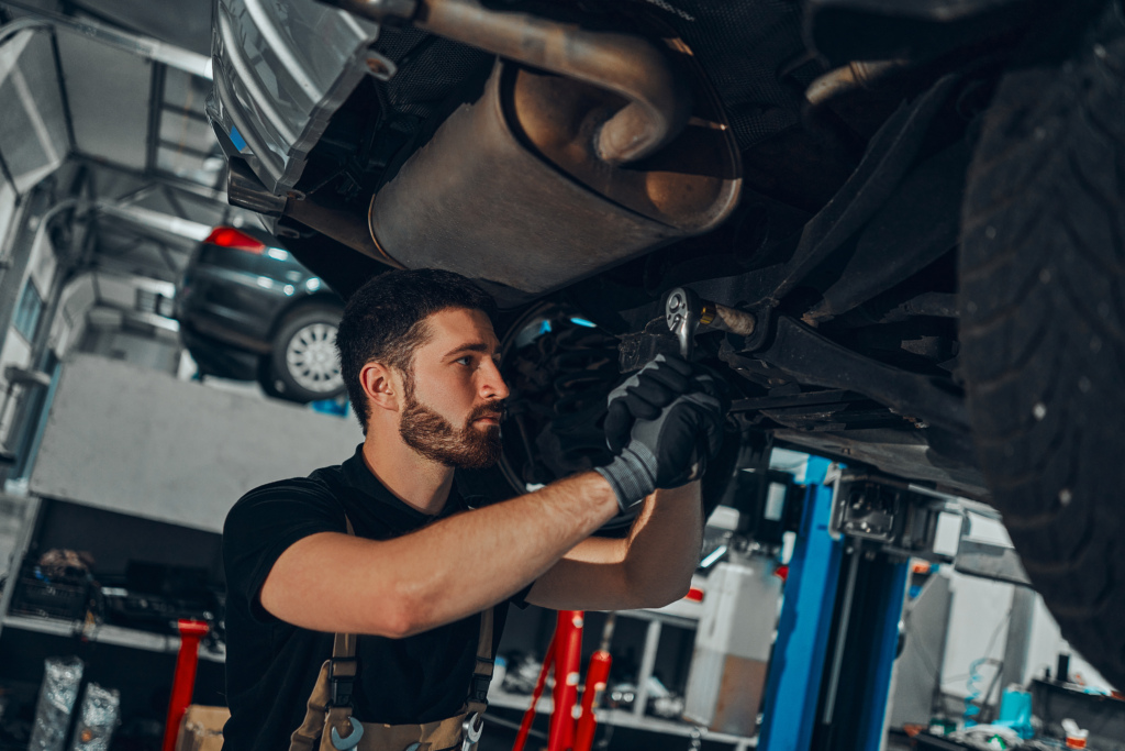
<path id="1" fill-rule="evenodd" d="M 312 535 L 281 554 L 260 599 L 303 628 L 410 636 L 520 591 L 616 512 L 588 472 L 390 540 Z"/>

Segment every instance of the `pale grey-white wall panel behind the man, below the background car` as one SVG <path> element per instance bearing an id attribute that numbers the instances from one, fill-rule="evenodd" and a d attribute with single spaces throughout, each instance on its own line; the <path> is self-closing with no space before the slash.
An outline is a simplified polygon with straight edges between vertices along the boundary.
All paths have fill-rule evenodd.
<path id="1" fill-rule="evenodd" d="M 30 490 L 222 531 L 246 491 L 349 458 L 354 420 L 76 355 L 64 366 Z"/>

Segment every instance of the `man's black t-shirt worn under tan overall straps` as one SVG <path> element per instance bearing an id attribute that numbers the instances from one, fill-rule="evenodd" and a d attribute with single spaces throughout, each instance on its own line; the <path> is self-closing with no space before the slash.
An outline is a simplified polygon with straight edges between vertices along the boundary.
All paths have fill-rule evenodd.
<path id="1" fill-rule="evenodd" d="M 224 751 L 288 749 L 289 736 L 305 718 L 321 664 L 332 656 L 332 634 L 279 620 L 258 601 L 266 576 L 286 548 L 317 533 L 346 533 L 344 513 L 357 536 L 392 539 L 434 519 L 479 507 L 482 500 L 464 498 L 454 483 L 442 512 L 424 515 L 395 498 L 371 474 L 363 463 L 362 446 L 339 466 L 246 493 L 231 509 L 223 529 L 231 707 L 231 719 L 223 731 Z M 522 606 L 526 591 L 512 601 Z M 495 609 L 494 655 L 507 606 L 502 602 Z M 402 640 L 360 636 L 356 651 L 359 676 L 352 694 L 356 717 L 415 724 L 457 714 L 468 696 L 479 633 L 480 616 L 474 615 Z"/>

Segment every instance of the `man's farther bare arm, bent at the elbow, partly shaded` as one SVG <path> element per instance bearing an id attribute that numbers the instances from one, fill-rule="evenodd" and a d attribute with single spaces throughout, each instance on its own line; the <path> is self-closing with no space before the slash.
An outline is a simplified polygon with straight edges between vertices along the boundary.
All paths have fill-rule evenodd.
<path id="1" fill-rule="evenodd" d="M 628 537 L 590 537 L 536 580 L 528 601 L 558 610 L 663 607 L 687 593 L 703 543 L 700 484 L 658 490 Z"/>

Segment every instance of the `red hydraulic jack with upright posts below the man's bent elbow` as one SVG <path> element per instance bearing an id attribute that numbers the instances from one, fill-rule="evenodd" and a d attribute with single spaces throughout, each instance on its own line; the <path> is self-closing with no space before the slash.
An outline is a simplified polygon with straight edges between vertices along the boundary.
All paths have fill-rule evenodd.
<path id="1" fill-rule="evenodd" d="M 590 667 L 586 669 L 586 690 L 583 691 L 582 697 L 582 715 L 577 727 L 575 727 L 574 708 L 578 703 L 583 615 L 582 610 L 559 611 L 555 636 L 551 638 L 550 646 L 547 647 L 547 656 L 539 671 L 536 690 L 531 695 L 531 706 L 523 715 L 523 722 L 515 736 L 512 751 L 523 751 L 531 723 L 536 716 L 536 705 L 539 703 L 539 697 L 542 696 L 547 673 L 552 664 L 555 667 L 555 709 L 551 713 L 547 749 L 548 751 L 590 751 L 593 745 L 596 728 L 594 709 L 597 708 L 597 701 L 602 691 L 605 690 L 605 681 L 610 674 L 609 643 L 613 635 L 614 616 L 610 614 L 606 619 L 605 629 L 602 632 L 601 649 L 591 656 Z"/>

